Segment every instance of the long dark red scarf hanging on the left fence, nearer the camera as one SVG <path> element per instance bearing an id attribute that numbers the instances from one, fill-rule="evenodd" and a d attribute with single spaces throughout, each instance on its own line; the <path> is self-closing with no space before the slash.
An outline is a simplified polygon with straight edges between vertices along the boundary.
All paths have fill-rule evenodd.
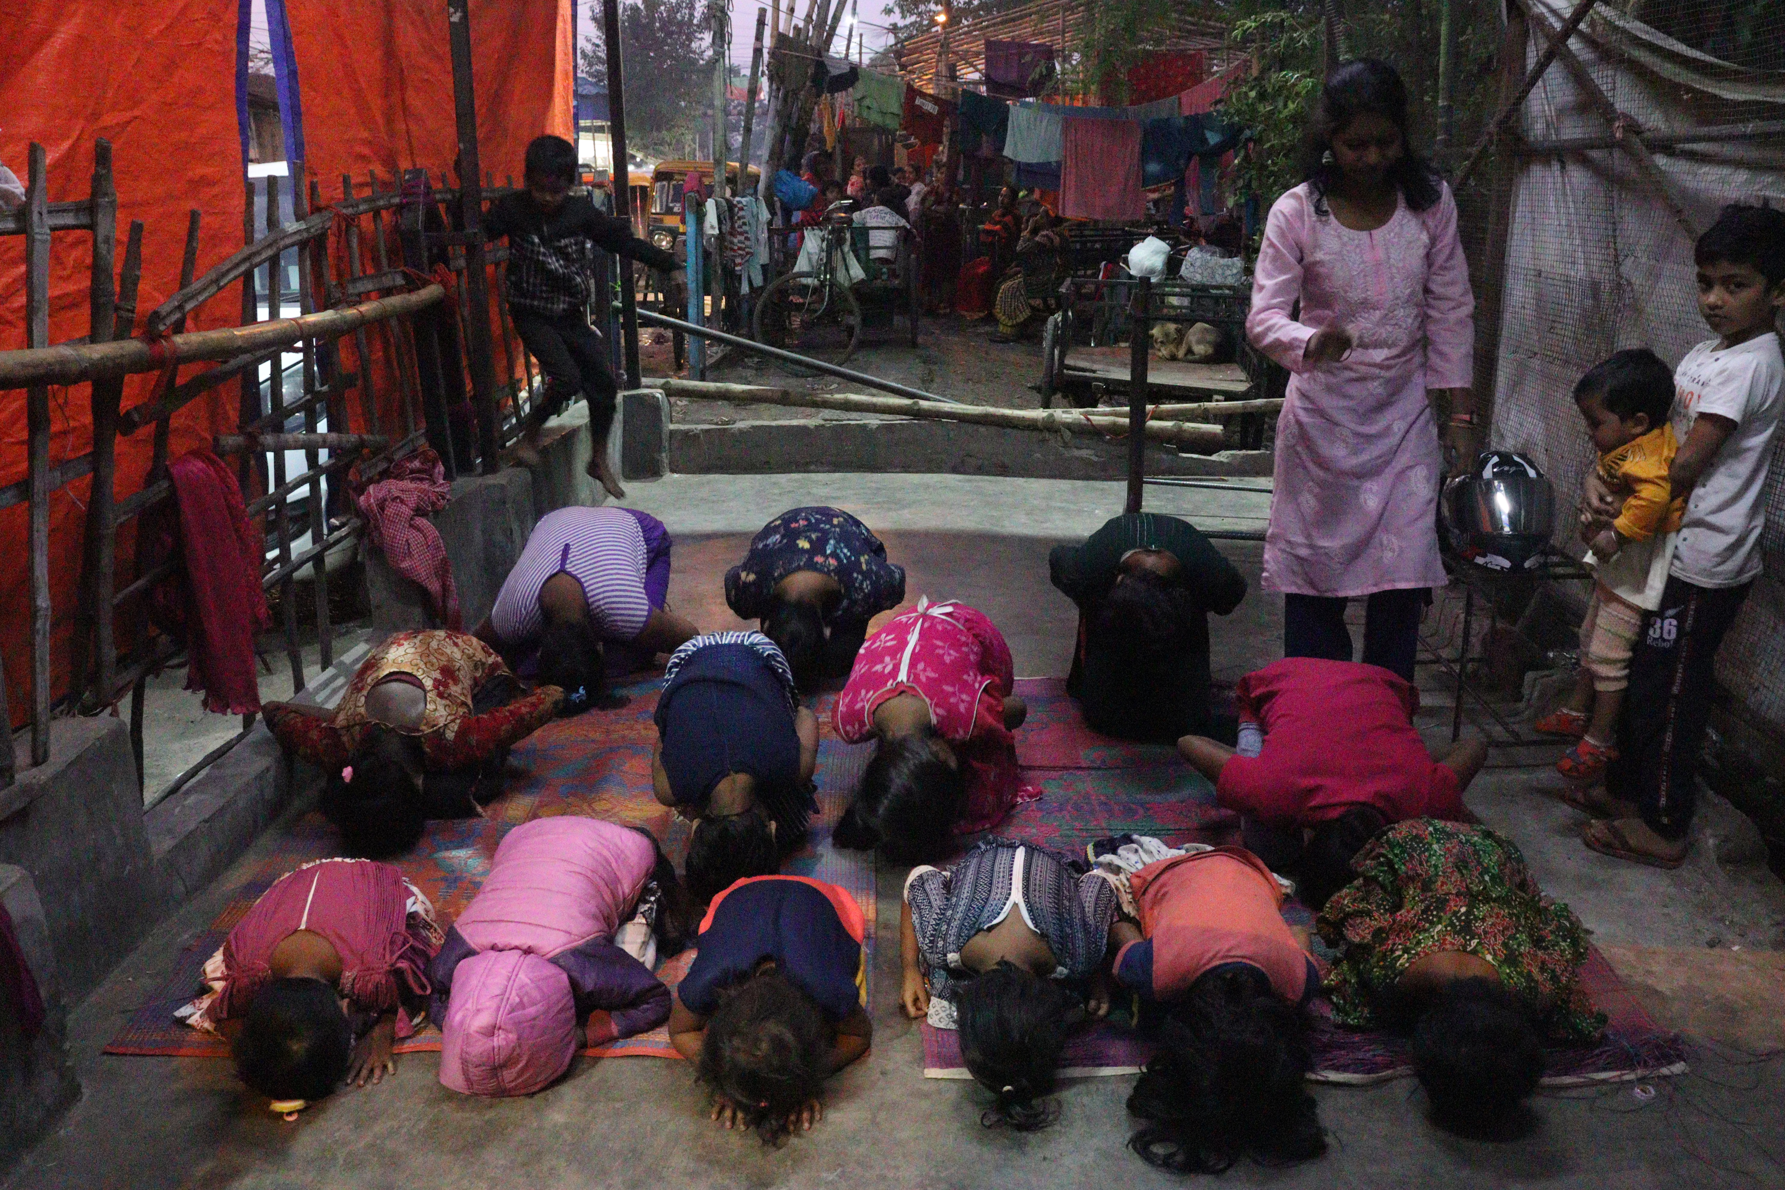
<path id="1" fill-rule="evenodd" d="M 205 710 L 261 710 L 253 637 L 271 624 L 261 585 L 264 544 L 248 525 L 236 473 L 207 450 L 168 464 L 178 526 L 157 542 L 178 550 L 184 573 L 155 592 L 155 621 L 186 640 L 186 689 L 203 690 Z M 154 546 L 152 546 L 154 548 Z"/>

